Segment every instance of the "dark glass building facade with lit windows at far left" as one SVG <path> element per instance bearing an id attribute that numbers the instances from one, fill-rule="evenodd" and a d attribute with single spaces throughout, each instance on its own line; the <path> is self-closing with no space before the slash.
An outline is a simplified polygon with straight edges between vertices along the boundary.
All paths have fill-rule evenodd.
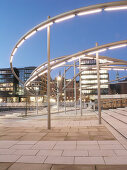
<path id="1" fill-rule="evenodd" d="M 15 73 L 25 82 L 36 67 L 14 68 Z M 0 69 L 0 97 L 19 97 L 25 95 L 21 83 L 12 74 L 10 68 Z"/>

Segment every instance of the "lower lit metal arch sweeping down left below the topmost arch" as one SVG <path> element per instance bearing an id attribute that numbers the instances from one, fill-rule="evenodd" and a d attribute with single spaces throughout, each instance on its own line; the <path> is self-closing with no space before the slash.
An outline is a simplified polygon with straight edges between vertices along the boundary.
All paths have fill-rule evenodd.
<path id="1" fill-rule="evenodd" d="M 97 46 L 94 48 L 90 48 L 72 55 L 68 55 L 68 56 L 63 56 L 63 57 L 59 57 L 56 59 L 53 59 L 50 63 L 51 63 L 51 70 L 53 70 L 54 68 L 58 68 L 61 67 L 63 65 L 66 64 L 66 62 L 72 62 L 74 60 L 78 60 L 79 58 L 86 58 L 86 59 L 95 59 L 96 57 L 93 54 L 96 54 L 97 52 L 103 52 L 106 50 L 111 50 L 111 49 L 117 49 L 117 48 L 122 48 L 122 47 L 127 47 L 127 40 L 123 40 L 123 41 L 117 41 L 117 42 L 113 42 L 113 43 L 109 43 L 109 44 L 105 44 L 105 45 L 101 45 L 101 46 Z M 115 59 L 115 58 L 110 58 L 110 57 L 104 57 L 104 56 L 100 56 L 99 59 L 105 60 L 107 61 L 107 63 L 102 64 L 102 66 L 106 66 L 106 65 L 127 65 L 127 61 L 125 60 L 120 60 L 120 59 Z M 40 65 L 39 67 L 37 67 L 33 73 L 31 74 L 31 77 L 25 82 L 25 86 L 29 86 L 29 84 L 34 81 L 38 76 L 43 75 L 44 73 L 47 73 L 47 62 Z"/>

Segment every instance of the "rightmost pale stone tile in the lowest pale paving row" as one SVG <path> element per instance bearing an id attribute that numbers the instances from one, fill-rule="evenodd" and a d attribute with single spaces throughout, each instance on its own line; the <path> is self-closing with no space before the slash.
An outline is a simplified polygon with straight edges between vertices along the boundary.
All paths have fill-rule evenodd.
<path id="1" fill-rule="evenodd" d="M 127 156 L 104 157 L 107 165 L 127 165 Z"/>

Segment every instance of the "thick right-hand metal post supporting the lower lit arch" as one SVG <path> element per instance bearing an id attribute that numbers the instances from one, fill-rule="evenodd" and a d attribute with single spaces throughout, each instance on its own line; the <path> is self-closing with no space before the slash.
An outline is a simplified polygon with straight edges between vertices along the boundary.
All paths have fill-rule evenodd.
<path id="1" fill-rule="evenodd" d="M 98 43 L 96 43 L 96 46 L 98 46 Z M 98 116 L 99 124 L 101 124 L 101 90 L 100 90 L 100 66 L 98 52 L 96 53 L 96 66 L 97 66 Z"/>

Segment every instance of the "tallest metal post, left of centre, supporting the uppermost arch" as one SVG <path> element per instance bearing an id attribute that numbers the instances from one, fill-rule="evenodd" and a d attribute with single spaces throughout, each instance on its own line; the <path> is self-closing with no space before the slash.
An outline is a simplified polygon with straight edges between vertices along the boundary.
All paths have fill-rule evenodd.
<path id="1" fill-rule="evenodd" d="M 48 16 L 48 19 L 50 16 Z M 47 102 L 48 102 L 48 129 L 51 129 L 50 115 L 50 26 L 47 27 L 47 56 L 48 56 L 48 76 L 47 76 Z"/>

